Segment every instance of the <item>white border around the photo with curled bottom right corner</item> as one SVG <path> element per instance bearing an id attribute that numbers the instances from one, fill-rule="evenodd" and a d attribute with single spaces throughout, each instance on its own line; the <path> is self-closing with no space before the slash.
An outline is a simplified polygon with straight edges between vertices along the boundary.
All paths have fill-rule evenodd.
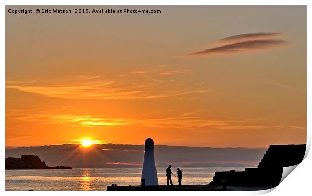
<path id="1" fill-rule="evenodd" d="M 82 1 L 82 0 L 76 0 L 76 1 L 67 1 L 67 0 L 46 0 L 46 1 L 39 1 L 39 0 L 29 0 L 29 1 L 9 1 L 4 0 L 1 1 L 2 9 L 0 10 L 1 17 L 0 17 L 0 23 L 1 23 L 1 40 L 2 40 L 2 47 L 1 47 L 1 53 L 0 53 L 0 60 L 1 63 L 1 69 L 0 69 L 0 129 L 2 134 L 2 148 L 0 148 L 0 153 L 2 161 L 1 161 L 1 190 L 5 191 L 5 5 L 307 5 L 307 54 L 311 54 L 311 39 L 310 35 L 312 35 L 311 32 L 311 14 L 310 14 L 310 3 L 311 1 L 307 0 L 297 0 L 297 1 L 290 1 L 290 0 L 284 0 L 284 1 L 276 1 L 276 0 L 254 0 L 254 1 L 247 1 L 247 0 L 219 0 L 219 1 L 199 1 L 199 0 L 192 0 L 192 1 L 170 1 L 170 0 L 159 0 L 159 1 L 139 1 L 139 0 L 133 0 L 133 1 L 122 1 L 122 0 L 110 0 L 110 1 L 100 1 L 100 0 L 88 0 L 88 1 Z M 308 100 L 312 100 L 311 96 L 311 58 L 309 55 L 307 55 L 307 151 L 305 154 L 305 157 L 308 154 L 308 151 L 310 149 L 311 145 L 311 123 L 308 121 L 308 119 L 311 118 L 311 103 L 308 102 Z M 311 156 L 308 156 L 305 158 L 305 160 L 298 165 L 295 172 L 292 172 L 280 185 L 278 185 L 274 191 L 272 189 L 270 190 L 263 190 L 263 191 L 199 191 L 196 192 L 196 194 L 199 195 L 255 195 L 255 194 L 264 194 L 271 192 L 271 195 L 306 195 L 308 192 L 311 192 L 310 190 L 310 176 L 312 175 L 310 165 L 312 165 L 312 158 Z M 103 192 L 103 191 L 22 191 L 22 192 L 16 192 L 16 191 L 6 191 L 5 192 L 8 195 L 14 195 L 14 194 L 24 194 L 24 195 L 38 195 L 38 194 L 47 194 L 47 195 L 68 195 L 68 194 L 75 194 L 75 195 L 82 195 L 82 194 L 93 194 L 93 195 L 122 195 L 124 193 L 129 195 L 145 195 L 145 191 L 140 192 L 134 192 L 134 191 L 128 191 L 128 192 Z M 159 192 L 159 191 L 149 191 L 149 195 L 158 195 L 158 194 L 166 194 L 166 195 L 172 195 L 178 192 Z M 179 194 L 187 195 L 189 191 L 183 191 L 179 192 Z"/>

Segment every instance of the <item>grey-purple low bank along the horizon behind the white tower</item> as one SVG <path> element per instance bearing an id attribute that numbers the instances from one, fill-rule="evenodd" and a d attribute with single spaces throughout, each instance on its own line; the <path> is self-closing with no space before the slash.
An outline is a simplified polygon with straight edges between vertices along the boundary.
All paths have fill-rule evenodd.
<path id="1" fill-rule="evenodd" d="M 265 148 L 210 148 L 155 145 L 157 167 L 167 167 L 168 155 L 180 167 L 252 167 L 258 164 Z M 47 165 L 69 165 L 73 168 L 142 167 L 144 145 L 62 144 L 32 147 L 6 147 L 6 157 L 22 154 L 39 156 Z"/>

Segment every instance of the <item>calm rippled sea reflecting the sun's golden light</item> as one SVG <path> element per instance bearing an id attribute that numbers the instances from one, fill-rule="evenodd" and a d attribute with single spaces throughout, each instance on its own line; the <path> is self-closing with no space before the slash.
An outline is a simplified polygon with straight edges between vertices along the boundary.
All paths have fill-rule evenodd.
<path id="1" fill-rule="evenodd" d="M 243 171 L 242 167 L 183 168 L 182 184 L 208 184 L 215 171 Z M 166 168 L 157 168 L 166 185 Z M 107 186 L 140 185 L 141 168 L 77 168 L 64 170 L 6 170 L 6 190 L 106 190 Z M 173 183 L 178 179 L 172 177 Z"/>

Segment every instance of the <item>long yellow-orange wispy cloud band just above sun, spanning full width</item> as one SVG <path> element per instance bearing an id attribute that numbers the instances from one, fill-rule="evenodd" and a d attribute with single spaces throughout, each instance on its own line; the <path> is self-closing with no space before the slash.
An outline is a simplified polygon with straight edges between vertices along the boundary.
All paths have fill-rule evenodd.
<path id="1" fill-rule="evenodd" d="M 99 126 L 143 126 L 158 129 L 184 129 L 206 132 L 211 130 L 262 130 L 262 129 L 298 129 L 306 130 L 300 125 L 268 125 L 263 118 L 225 118 L 210 119 L 196 115 L 199 111 L 185 112 L 164 118 L 128 118 L 107 117 L 104 115 L 49 113 L 46 111 L 7 111 L 6 116 L 41 124 L 59 124 L 66 126 L 99 127 Z"/>

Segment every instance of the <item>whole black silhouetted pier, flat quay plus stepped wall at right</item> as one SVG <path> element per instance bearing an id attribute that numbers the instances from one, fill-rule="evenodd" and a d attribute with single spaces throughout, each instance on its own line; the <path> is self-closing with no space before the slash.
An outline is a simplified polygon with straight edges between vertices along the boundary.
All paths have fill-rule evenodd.
<path id="1" fill-rule="evenodd" d="M 259 165 L 245 171 L 217 171 L 207 185 L 182 186 L 118 186 L 106 190 L 266 190 L 277 186 L 283 167 L 299 164 L 304 157 L 306 144 L 270 145 Z"/>

